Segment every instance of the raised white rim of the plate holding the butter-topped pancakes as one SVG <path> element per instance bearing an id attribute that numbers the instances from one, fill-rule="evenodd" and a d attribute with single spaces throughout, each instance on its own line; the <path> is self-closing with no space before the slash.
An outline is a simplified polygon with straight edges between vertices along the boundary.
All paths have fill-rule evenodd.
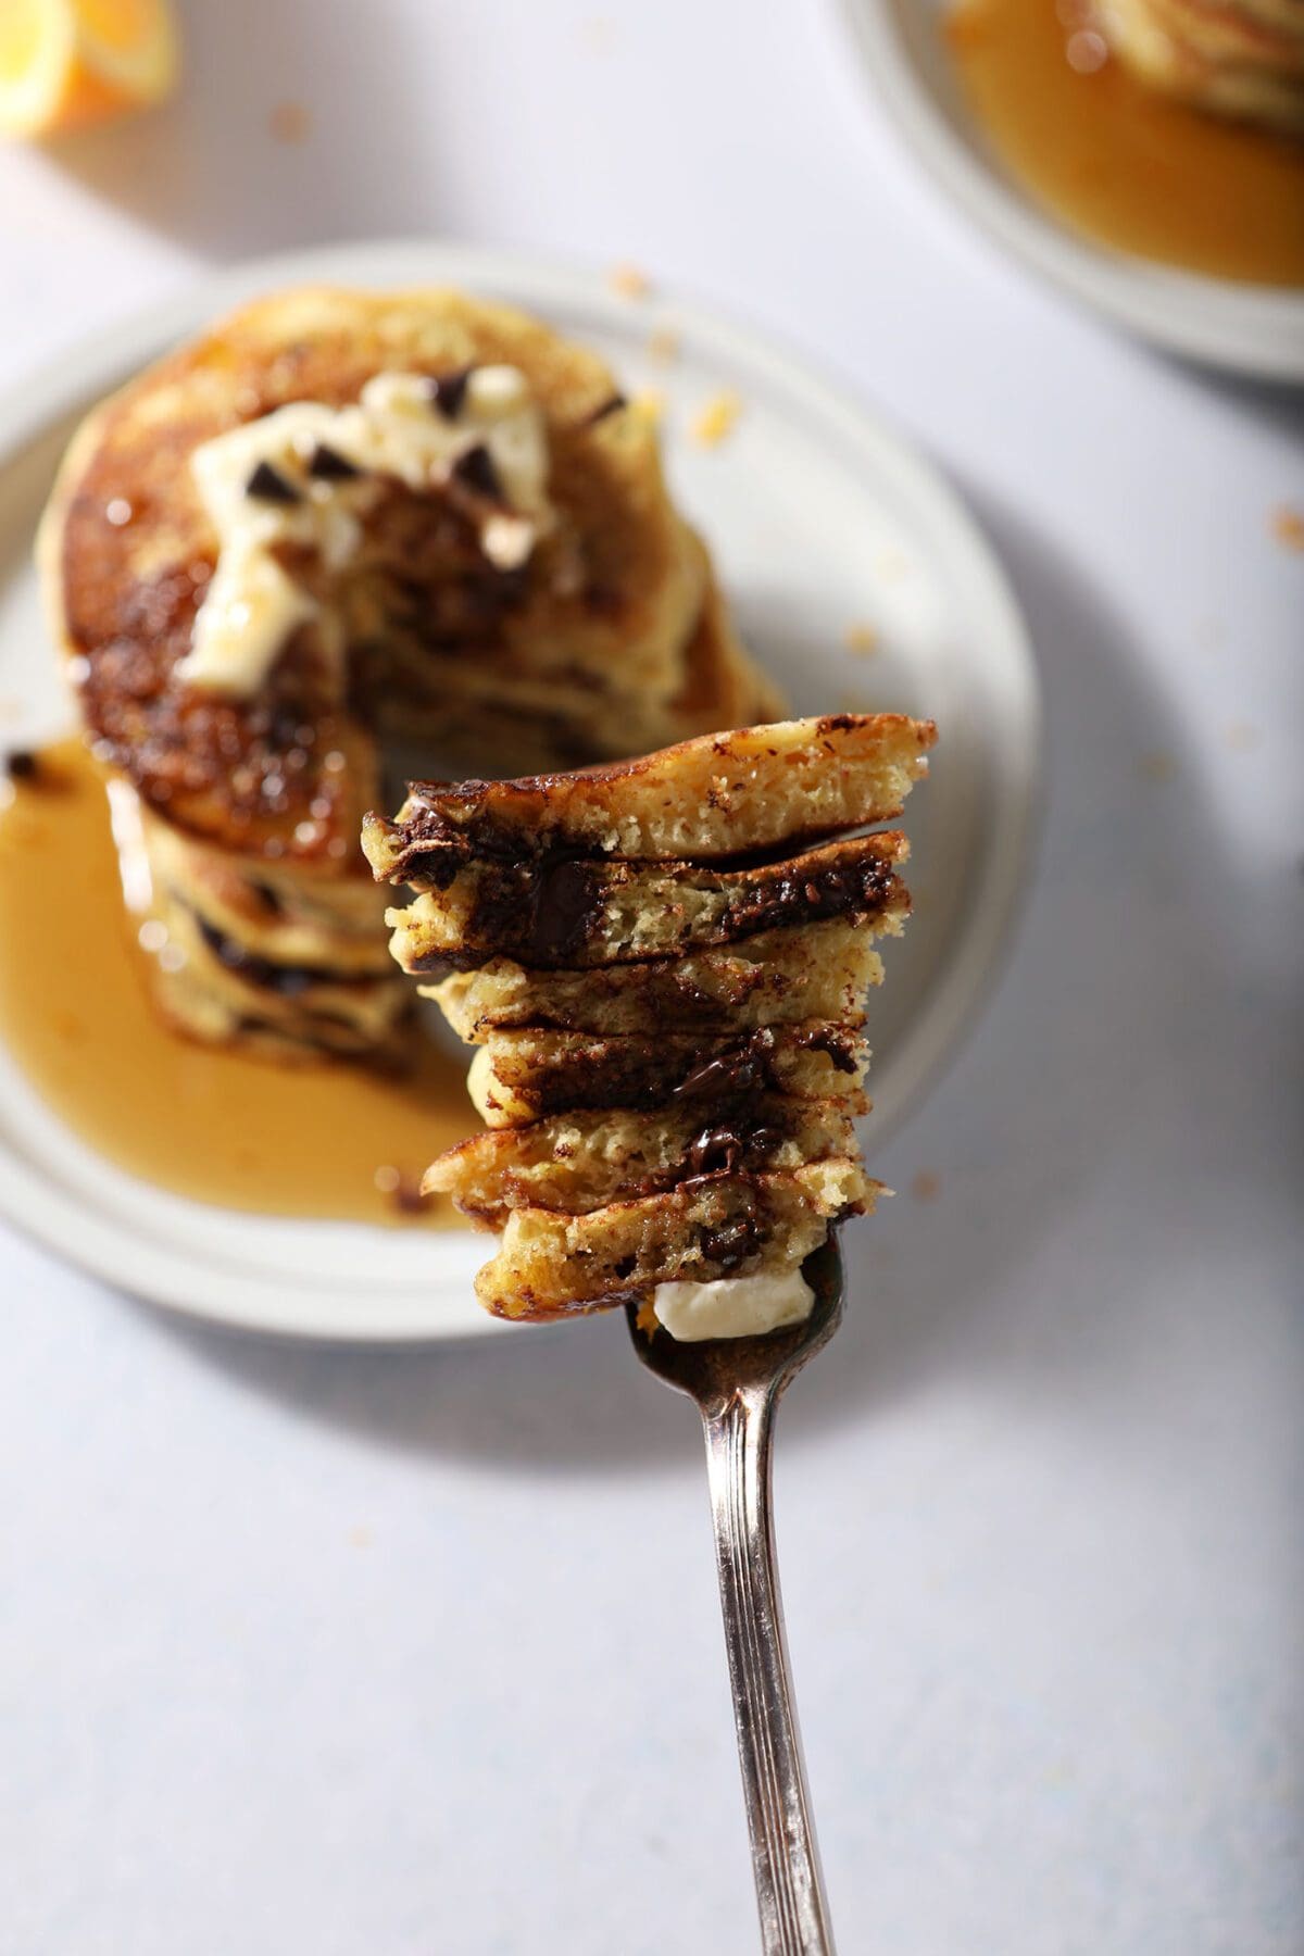
<path id="1" fill-rule="evenodd" d="M 628 327 L 630 301 L 604 284 L 594 266 L 538 258 L 530 252 L 444 243 L 438 239 L 393 239 L 360 244 L 328 244 L 293 252 L 274 252 L 244 260 L 196 280 L 152 305 L 72 344 L 39 366 L 27 379 L 0 393 L 0 467 L 39 440 L 53 421 L 82 401 L 92 401 L 121 383 L 137 366 L 156 358 L 156 350 L 194 333 L 205 319 L 242 297 L 295 280 L 338 278 L 350 284 L 448 282 L 504 295 L 524 293 L 528 307 L 571 305 Z M 807 354 L 780 336 L 739 325 L 727 311 L 678 288 L 659 288 L 657 303 L 676 327 L 721 360 L 741 364 L 817 424 L 829 419 L 852 450 L 874 458 L 880 479 L 905 493 L 929 514 L 931 526 L 946 540 L 946 561 L 981 591 L 985 638 L 999 640 L 1007 655 L 1003 712 L 993 730 L 993 773 L 999 794 L 991 810 L 991 843 L 983 861 L 983 888 L 970 900 L 964 935 L 956 955 L 940 966 L 923 1007 L 925 1033 L 917 1039 L 913 1066 L 901 1076 L 895 1105 L 878 1125 L 876 1140 L 890 1133 L 936 1084 L 954 1058 L 964 1035 L 991 998 L 1013 947 L 1022 898 L 1032 870 L 1042 814 L 1042 698 L 1030 634 L 1009 577 L 987 542 L 978 518 L 944 473 L 907 436 L 897 434 L 888 417 L 868 407 L 860 389 L 845 376 L 825 378 Z M 182 1320 L 272 1340 L 326 1346 L 432 1346 L 510 1334 L 483 1311 L 456 1326 L 413 1324 L 403 1312 L 385 1316 L 383 1299 L 368 1307 L 368 1322 L 356 1318 L 305 1322 L 285 1311 L 282 1279 L 209 1271 L 172 1248 L 137 1244 L 131 1267 L 123 1267 L 121 1244 L 98 1217 L 72 1221 L 74 1199 L 51 1191 L 41 1172 L 8 1150 L 0 1152 L 0 1217 L 16 1230 L 55 1252 L 63 1262 L 119 1293 L 143 1299 Z M 117 1254 L 106 1246 L 117 1244 Z M 293 1289 L 293 1287 L 289 1287 Z"/>

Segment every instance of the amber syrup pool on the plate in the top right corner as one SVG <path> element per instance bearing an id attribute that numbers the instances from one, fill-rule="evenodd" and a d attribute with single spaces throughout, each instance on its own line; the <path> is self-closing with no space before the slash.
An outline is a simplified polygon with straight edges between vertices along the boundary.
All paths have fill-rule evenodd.
<path id="1" fill-rule="evenodd" d="M 1001 160 L 1114 250 L 1304 286 L 1304 145 L 1202 115 L 1116 61 L 1077 72 L 1054 0 L 962 0 L 946 37 Z"/>

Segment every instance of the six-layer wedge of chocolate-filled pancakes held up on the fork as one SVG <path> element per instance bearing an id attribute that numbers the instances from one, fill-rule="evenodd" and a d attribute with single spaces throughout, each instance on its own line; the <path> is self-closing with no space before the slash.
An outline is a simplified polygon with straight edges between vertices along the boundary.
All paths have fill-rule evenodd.
<path id="1" fill-rule="evenodd" d="M 375 876 L 416 892 L 393 953 L 479 1046 L 489 1133 L 426 1174 L 502 1230 L 489 1311 L 551 1318 L 661 1283 L 796 1271 L 870 1209 L 872 939 L 909 894 L 899 814 L 935 730 L 798 720 L 626 765 L 413 784 L 369 816 Z M 837 839 L 829 839 L 837 837 Z"/>

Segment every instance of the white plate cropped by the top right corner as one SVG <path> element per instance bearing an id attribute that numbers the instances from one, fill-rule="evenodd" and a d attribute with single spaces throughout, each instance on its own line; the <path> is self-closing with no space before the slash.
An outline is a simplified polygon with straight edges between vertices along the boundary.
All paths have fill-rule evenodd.
<path id="1" fill-rule="evenodd" d="M 1175 272 L 1077 239 L 1007 176 L 964 102 L 940 23 L 952 0 L 845 0 L 874 90 L 948 198 L 1034 270 L 1169 352 L 1304 381 L 1304 297 Z"/>

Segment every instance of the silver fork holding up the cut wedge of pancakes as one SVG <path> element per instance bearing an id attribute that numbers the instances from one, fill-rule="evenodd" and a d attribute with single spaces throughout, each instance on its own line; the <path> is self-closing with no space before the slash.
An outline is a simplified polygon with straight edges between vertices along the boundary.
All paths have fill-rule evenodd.
<path id="1" fill-rule="evenodd" d="M 706 1432 L 719 1606 L 764 1956 L 833 1956 L 788 1672 L 770 1463 L 778 1399 L 843 1316 L 835 1232 L 807 1260 L 804 1275 L 815 1291 L 809 1318 L 768 1338 L 680 1344 L 663 1330 L 649 1338 L 637 1328 L 637 1307 L 628 1307 L 639 1359 L 696 1400 Z"/>

